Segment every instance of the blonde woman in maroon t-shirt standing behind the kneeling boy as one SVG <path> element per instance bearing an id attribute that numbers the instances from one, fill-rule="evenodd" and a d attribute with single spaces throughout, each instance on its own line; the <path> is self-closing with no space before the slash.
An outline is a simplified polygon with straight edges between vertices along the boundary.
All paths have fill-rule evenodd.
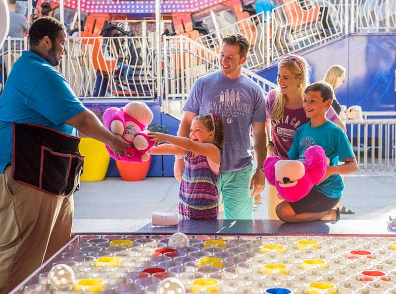
<path id="1" fill-rule="evenodd" d="M 288 158 L 287 152 L 293 143 L 297 128 L 308 122 L 302 108 L 303 93 L 309 84 L 310 66 L 300 56 L 286 54 L 278 62 L 278 86 L 265 98 L 266 128 L 269 136 L 267 156 L 277 155 Z M 344 124 L 330 108 L 326 117 L 346 131 Z M 275 186 L 266 182 L 267 208 L 269 219 L 279 219 L 275 208 L 282 202 L 277 197 Z"/>

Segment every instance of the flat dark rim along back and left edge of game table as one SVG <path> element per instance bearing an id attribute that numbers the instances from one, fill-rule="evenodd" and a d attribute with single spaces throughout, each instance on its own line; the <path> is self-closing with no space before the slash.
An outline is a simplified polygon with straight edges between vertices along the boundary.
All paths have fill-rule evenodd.
<path id="1" fill-rule="evenodd" d="M 127 222 L 127 220 L 125 220 Z M 127 223 L 117 226 L 117 222 L 111 230 L 106 232 L 98 231 L 98 228 L 88 231 L 74 232 L 70 242 L 65 244 L 46 263 L 38 268 L 31 276 L 15 288 L 11 294 L 23 293 L 23 288 L 29 285 L 33 277 L 39 273 L 48 272 L 51 265 L 59 261 L 59 256 L 68 248 L 70 244 L 78 244 L 79 238 L 87 235 L 172 235 L 177 232 L 190 236 L 301 236 L 309 238 L 314 236 L 343 236 L 343 237 L 395 237 L 396 231 L 392 230 L 386 221 L 381 220 L 340 220 L 340 221 L 313 221 L 299 224 L 285 224 L 279 220 L 182 220 L 178 226 L 162 227 L 152 226 L 151 223 L 143 226 L 135 232 L 128 232 Z M 103 227 L 101 227 L 103 229 Z M 108 229 L 108 227 L 104 226 Z M 122 230 L 120 230 L 122 228 Z M 395 255 L 396 256 L 396 255 Z M 31 283 L 31 282 L 30 282 Z"/>

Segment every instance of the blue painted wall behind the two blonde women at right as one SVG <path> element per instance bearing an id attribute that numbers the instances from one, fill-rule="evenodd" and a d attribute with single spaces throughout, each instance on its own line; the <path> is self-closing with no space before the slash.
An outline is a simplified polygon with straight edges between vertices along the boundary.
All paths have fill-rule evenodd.
<path id="1" fill-rule="evenodd" d="M 333 64 L 347 69 L 347 81 L 336 91 L 347 106 L 363 111 L 395 111 L 396 34 L 350 34 L 300 53 L 312 66 L 311 82 L 321 80 Z M 258 72 L 276 82 L 277 65 Z"/>

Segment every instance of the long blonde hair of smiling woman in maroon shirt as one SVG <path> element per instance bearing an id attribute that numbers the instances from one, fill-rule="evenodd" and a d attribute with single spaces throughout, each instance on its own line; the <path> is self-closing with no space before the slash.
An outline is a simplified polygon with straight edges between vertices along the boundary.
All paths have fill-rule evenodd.
<path id="1" fill-rule="evenodd" d="M 291 58 L 294 60 L 290 60 Z M 302 101 L 304 90 L 309 85 L 309 76 L 311 73 L 311 67 L 309 66 L 308 62 L 306 62 L 306 60 L 303 57 L 298 55 L 285 55 L 278 62 L 278 68 L 280 67 L 286 67 L 287 69 L 289 69 L 290 72 L 297 79 L 302 77 L 301 84 L 299 85 L 301 92 L 301 101 Z M 278 84 L 278 86 L 276 87 L 275 102 L 270 111 L 271 119 L 280 120 L 281 118 L 283 118 L 287 101 L 288 101 L 287 95 L 281 93 L 281 87 Z"/>

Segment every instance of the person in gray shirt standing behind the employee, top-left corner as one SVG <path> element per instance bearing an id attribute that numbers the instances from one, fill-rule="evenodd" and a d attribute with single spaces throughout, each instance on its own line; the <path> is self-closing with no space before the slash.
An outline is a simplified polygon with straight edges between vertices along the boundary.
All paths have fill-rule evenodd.
<path id="1" fill-rule="evenodd" d="M 8 10 L 9 10 L 9 30 L 8 37 L 11 38 L 21 38 L 23 39 L 28 33 L 28 23 L 26 17 L 23 14 L 16 13 L 16 0 L 7 0 Z M 11 66 L 7 68 L 7 74 L 9 73 L 15 60 L 21 56 L 21 50 L 23 50 L 23 41 L 11 41 L 10 52 L 8 50 L 8 41 L 4 42 L 3 52 L 4 52 L 4 65 L 8 66 L 8 59 L 11 61 Z M 6 53 L 7 52 L 7 53 Z"/>

